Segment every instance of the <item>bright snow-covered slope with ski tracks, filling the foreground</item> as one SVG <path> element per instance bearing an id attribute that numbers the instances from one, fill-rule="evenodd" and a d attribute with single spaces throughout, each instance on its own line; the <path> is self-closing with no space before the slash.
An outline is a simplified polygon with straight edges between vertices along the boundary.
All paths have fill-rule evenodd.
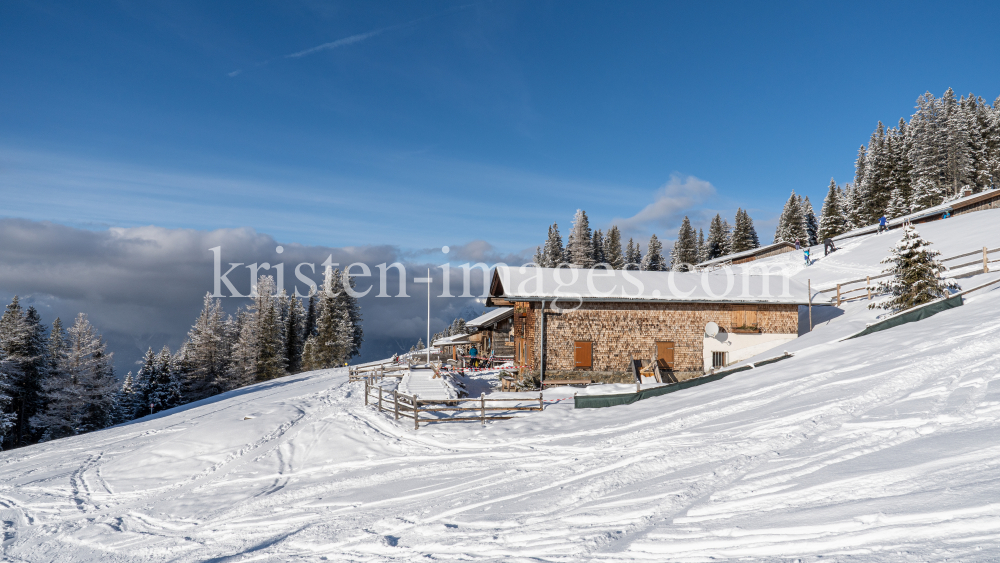
<path id="1" fill-rule="evenodd" d="M 921 233 L 946 254 L 1000 246 L 977 233 L 945 248 L 992 213 Z M 935 238 L 938 225 L 950 230 Z M 839 258 L 878 271 L 893 242 L 866 239 Z M 993 560 L 998 310 L 1000 289 L 984 291 L 919 323 L 835 342 L 869 314 L 852 304 L 784 362 L 629 406 L 561 401 L 486 428 L 414 431 L 366 409 L 362 384 L 342 370 L 287 377 L 0 454 L 4 554 Z"/>

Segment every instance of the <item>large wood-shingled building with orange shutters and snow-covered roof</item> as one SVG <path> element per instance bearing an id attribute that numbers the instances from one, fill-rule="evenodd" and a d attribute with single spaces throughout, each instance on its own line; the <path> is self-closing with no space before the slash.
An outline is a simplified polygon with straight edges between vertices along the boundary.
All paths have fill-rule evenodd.
<path id="1" fill-rule="evenodd" d="M 605 382 L 629 381 L 630 359 L 687 379 L 765 352 L 798 336 L 807 303 L 779 276 L 533 267 L 498 268 L 487 299 L 513 309 L 516 365 Z"/>

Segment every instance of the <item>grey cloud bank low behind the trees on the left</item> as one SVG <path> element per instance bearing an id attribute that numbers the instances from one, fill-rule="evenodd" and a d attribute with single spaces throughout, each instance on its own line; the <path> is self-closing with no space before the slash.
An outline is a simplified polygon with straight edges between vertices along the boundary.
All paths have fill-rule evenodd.
<path id="1" fill-rule="evenodd" d="M 101 231 L 78 229 L 50 222 L 0 219 L 0 298 L 9 302 L 21 296 L 35 306 L 50 325 L 55 317 L 64 321 L 76 313 L 87 313 L 115 352 L 116 370 L 134 370 L 134 362 L 148 346 L 164 344 L 176 349 L 201 309 L 202 297 L 213 290 L 214 254 L 222 247 L 223 272 L 230 263 L 243 263 L 229 274 L 237 291 L 247 294 L 250 270 L 246 265 L 283 263 L 285 288 L 307 294 L 309 284 L 296 279 L 295 266 L 315 264 L 315 273 L 301 272 L 315 283 L 322 278 L 322 263 L 330 259 L 345 267 L 363 262 L 372 277 L 358 278 L 359 289 L 372 286 L 361 299 L 365 344 L 363 358 L 382 358 L 399 349 L 409 349 L 426 331 L 426 298 L 422 285 L 407 285 L 409 297 L 376 298 L 379 293 L 377 264 L 400 262 L 408 279 L 423 276 L 430 267 L 435 278 L 432 295 L 440 295 L 441 270 L 445 261 L 490 260 L 499 257 L 482 241 L 456 245 L 449 255 L 416 260 L 392 246 L 328 247 L 280 243 L 253 229 L 167 229 L 162 227 L 111 228 Z M 277 247 L 282 252 L 277 252 Z M 388 292 L 397 293 L 395 270 L 388 270 Z M 262 271 L 275 275 L 276 270 Z M 225 287 L 225 286 L 223 286 Z M 452 271 L 451 293 L 462 289 L 461 270 Z M 472 276 L 472 294 L 480 295 L 482 279 Z M 223 290 L 228 295 L 228 291 Z M 247 299 L 222 300 L 233 312 Z M 476 299 L 432 299 L 432 330 L 440 330 L 457 316 L 469 318 L 483 309 Z"/>

